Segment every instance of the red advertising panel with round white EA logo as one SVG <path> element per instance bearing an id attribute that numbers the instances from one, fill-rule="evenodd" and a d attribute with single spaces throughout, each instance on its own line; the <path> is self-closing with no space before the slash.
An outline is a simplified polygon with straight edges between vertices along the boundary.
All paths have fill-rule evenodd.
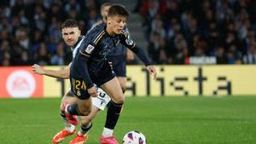
<path id="1" fill-rule="evenodd" d="M 31 66 L 0 67 L 0 97 L 42 97 L 43 76 L 35 75 Z"/>

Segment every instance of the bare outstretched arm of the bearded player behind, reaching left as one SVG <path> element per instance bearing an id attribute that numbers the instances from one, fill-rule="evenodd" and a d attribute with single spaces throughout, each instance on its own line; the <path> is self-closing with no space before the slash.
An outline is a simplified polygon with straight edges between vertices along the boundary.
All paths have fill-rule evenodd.
<path id="1" fill-rule="evenodd" d="M 71 63 L 64 69 L 61 70 L 47 70 L 44 67 L 34 64 L 32 66 L 32 71 L 36 74 L 46 75 L 53 78 L 69 78 L 69 70 Z"/>

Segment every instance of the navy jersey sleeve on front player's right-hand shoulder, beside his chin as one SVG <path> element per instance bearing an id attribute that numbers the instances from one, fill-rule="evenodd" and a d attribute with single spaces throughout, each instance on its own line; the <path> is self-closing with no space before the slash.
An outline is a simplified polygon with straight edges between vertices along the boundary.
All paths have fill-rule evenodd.
<path id="1" fill-rule="evenodd" d="M 136 45 L 134 41 L 131 39 L 131 36 L 127 27 L 125 27 L 125 29 L 121 33 L 120 43 L 125 45 L 126 48 L 130 48 L 130 49 L 135 47 Z"/>

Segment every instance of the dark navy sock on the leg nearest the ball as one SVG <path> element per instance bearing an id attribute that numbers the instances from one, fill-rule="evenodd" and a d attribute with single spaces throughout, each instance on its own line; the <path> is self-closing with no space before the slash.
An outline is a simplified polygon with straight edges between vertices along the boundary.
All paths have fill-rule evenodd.
<path id="1" fill-rule="evenodd" d="M 117 121 L 119 120 L 119 114 L 122 110 L 123 103 L 117 104 L 113 101 L 109 101 L 108 103 L 108 112 L 107 119 L 105 123 L 105 128 L 113 130 Z"/>

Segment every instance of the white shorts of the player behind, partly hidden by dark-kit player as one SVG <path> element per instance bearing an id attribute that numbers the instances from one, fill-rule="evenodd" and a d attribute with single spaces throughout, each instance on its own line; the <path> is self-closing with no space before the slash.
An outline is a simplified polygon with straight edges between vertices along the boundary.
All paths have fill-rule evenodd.
<path id="1" fill-rule="evenodd" d="M 91 97 L 92 104 L 99 109 L 104 110 L 111 99 L 101 88 L 97 88 L 97 91 L 99 95 L 97 97 Z"/>

